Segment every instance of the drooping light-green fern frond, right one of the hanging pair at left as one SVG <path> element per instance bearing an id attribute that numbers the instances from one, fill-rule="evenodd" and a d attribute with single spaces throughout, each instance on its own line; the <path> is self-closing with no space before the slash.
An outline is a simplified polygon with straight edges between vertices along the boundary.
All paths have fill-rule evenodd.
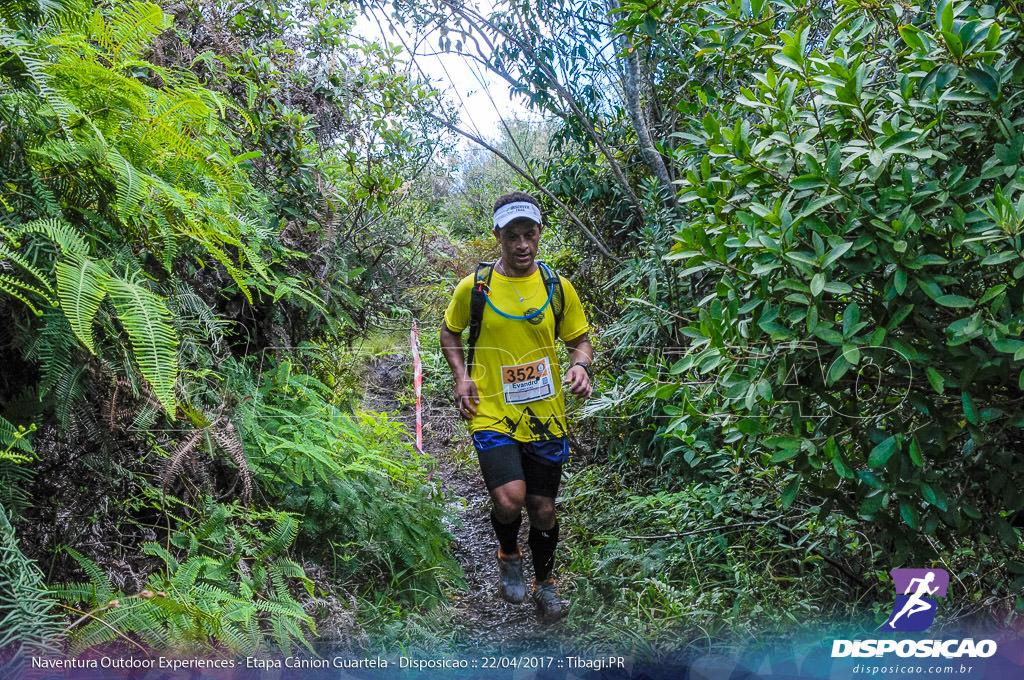
<path id="1" fill-rule="evenodd" d="M 178 338 L 171 325 L 171 312 L 157 294 L 115 277 L 110 280 L 110 295 L 118 318 L 128 331 L 142 376 L 167 415 L 174 420 Z"/>

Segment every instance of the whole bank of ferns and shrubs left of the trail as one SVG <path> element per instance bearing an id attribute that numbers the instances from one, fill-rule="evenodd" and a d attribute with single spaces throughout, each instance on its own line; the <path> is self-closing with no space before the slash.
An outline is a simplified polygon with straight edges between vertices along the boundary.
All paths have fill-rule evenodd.
<path id="1" fill-rule="evenodd" d="M 439 102 L 350 13 L 230 9 L 0 6 L 4 661 L 309 649 L 347 592 L 458 581 L 403 429 L 313 377 L 400 302 Z"/>

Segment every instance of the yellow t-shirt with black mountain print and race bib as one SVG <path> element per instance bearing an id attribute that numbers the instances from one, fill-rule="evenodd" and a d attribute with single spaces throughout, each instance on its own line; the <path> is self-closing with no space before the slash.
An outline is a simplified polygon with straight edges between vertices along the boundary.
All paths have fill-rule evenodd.
<path id="1" fill-rule="evenodd" d="M 469 326 L 473 274 L 459 282 L 444 311 L 444 323 L 455 334 Z M 574 340 L 587 333 L 587 317 L 572 284 L 559 277 L 564 305 L 559 339 Z M 520 296 L 523 299 L 519 301 Z M 469 423 L 471 432 L 496 430 L 516 441 L 564 437 L 565 400 L 561 367 L 555 351 L 555 315 L 540 268 L 525 278 L 490 275 L 490 303 L 513 316 L 543 311 L 528 321 L 505 318 L 489 305 L 483 308 L 471 377 L 480 402 Z M 468 358 L 468 351 L 467 351 Z"/>

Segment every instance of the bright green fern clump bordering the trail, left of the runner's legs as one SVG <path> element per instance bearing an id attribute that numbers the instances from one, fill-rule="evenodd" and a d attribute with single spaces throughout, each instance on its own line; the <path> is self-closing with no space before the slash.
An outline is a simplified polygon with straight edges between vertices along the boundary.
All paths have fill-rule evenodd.
<path id="1" fill-rule="evenodd" d="M 297 513 L 298 547 L 339 580 L 436 602 L 461 579 L 443 498 L 400 424 L 342 413 L 333 394 L 287 360 L 264 374 L 241 427 L 257 483 L 275 507 Z"/>

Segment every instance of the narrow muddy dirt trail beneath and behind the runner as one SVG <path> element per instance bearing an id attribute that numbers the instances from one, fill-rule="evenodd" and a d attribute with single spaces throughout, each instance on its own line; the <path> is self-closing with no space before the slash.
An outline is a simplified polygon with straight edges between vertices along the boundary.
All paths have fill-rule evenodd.
<path id="1" fill-rule="evenodd" d="M 411 375 L 408 355 L 392 354 L 369 367 L 364 407 L 387 411 L 416 431 L 415 405 L 402 408 L 395 394 L 402 381 Z M 457 638 L 466 646 L 488 651 L 513 652 L 521 649 L 549 647 L 559 637 L 561 624 L 545 625 L 538 621 L 531 600 L 512 604 L 498 596 L 498 547 L 490 527 L 490 502 L 475 457 L 460 463 L 455 447 L 469 445 L 469 435 L 454 408 L 447 405 L 424 405 L 424 453 L 437 462 L 434 478 L 451 494 L 455 503 L 456 523 L 450 526 L 454 535 L 452 552 L 462 565 L 468 586 L 456 591 L 451 604 L 455 610 L 452 623 Z M 452 443 L 453 436 L 459 443 Z M 526 544 L 528 520 L 523 517 L 519 545 L 527 584 L 532 579 L 532 562 Z"/>

